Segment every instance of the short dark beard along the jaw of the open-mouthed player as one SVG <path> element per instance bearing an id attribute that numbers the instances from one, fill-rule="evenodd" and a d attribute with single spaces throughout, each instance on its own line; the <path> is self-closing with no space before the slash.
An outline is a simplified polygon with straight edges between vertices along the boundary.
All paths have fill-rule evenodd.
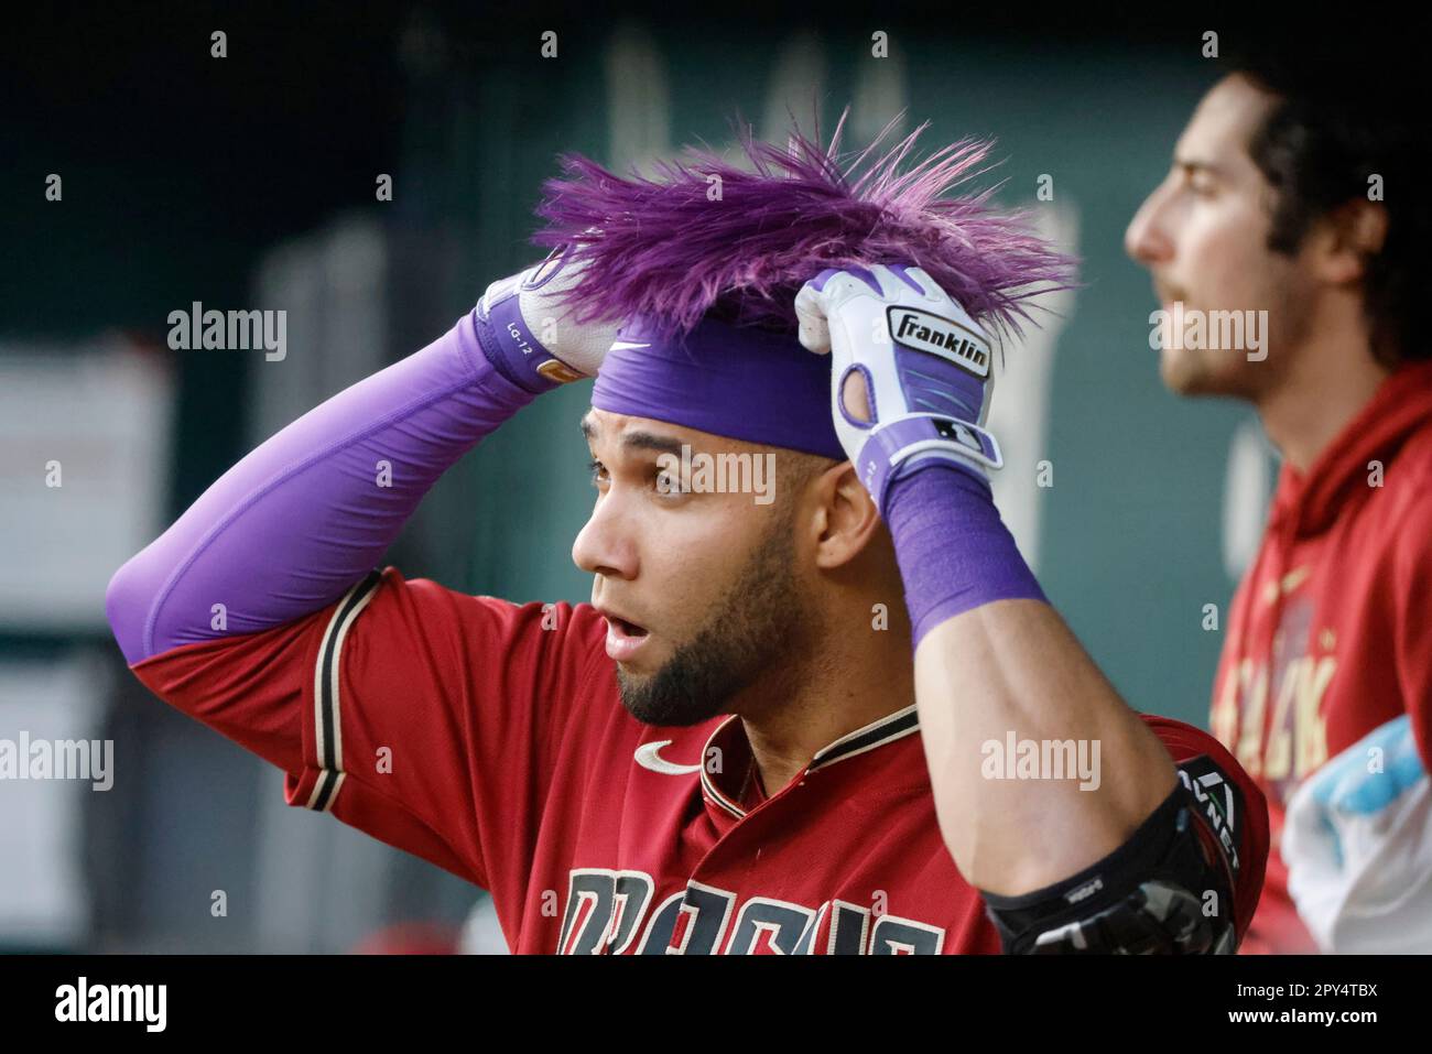
<path id="1" fill-rule="evenodd" d="M 617 667 L 621 705 L 644 725 L 686 727 L 720 713 L 762 679 L 799 676 L 812 632 L 793 571 L 790 526 L 776 523 L 696 634 L 646 677 Z"/>

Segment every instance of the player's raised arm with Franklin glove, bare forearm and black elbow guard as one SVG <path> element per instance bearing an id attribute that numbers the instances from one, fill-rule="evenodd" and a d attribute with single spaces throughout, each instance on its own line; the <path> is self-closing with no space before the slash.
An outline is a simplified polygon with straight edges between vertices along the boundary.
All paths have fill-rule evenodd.
<path id="1" fill-rule="evenodd" d="M 981 327 L 905 266 L 826 271 L 796 309 L 802 342 L 832 352 L 836 431 L 894 540 L 941 832 L 1007 947 L 1114 934 L 1229 948 L 1227 905 L 1200 915 L 1207 894 L 1232 899 L 1233 865 L 1209 852 L 1169 749 L 1045 601 L 991 500 Z M 1024 743 L 1035 763 L 1042 745 L 1073 745 L 1093 772 L 1010 778 Z"/>

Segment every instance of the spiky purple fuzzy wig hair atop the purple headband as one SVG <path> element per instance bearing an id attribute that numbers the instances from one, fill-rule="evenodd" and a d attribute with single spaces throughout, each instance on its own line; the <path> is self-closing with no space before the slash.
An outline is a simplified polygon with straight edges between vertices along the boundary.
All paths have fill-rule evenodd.
<path id="1" fill-rule="evenodd" d="M 703 318 L 793 334 L 795 295 L 825 268 L 909 264 L 990 329 L 1020 334 L 1024 301 L 1073 286 L 1075 261 L 1030 229 L 1027 212 L 990 208 L 992 189 L 945 198 L 984 169 L 994 143 L 964 139 L 901 170 L 925 122 L 885 153 L 885 130 L 853 158 L 800 135 L 782 149 L 739 140 L 748 168 L 709 149 L 656 166 L 657 178 L 607 172 L 564 155 L 544 185 L 533 241 L 567 245 L 584 265 L 567 294 L 577 321 L 637 315 L 657 332 L 690 332 Z M 816 130 L 819 137 L 819 129 Z M 717 186 L 722 196 L 709 200 Z"/>

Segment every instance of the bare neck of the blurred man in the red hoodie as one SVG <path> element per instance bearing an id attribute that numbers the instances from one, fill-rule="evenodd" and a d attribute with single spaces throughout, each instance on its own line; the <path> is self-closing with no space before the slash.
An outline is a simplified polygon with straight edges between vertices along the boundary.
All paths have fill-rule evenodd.
<path id="1" fill-rule="evenodd" d="M 1269 440 L 1299 473 L 1317 461 L 1389 374 L 1360 328 L 1315 334 L 1279 382 L 1254 400 Z"/>

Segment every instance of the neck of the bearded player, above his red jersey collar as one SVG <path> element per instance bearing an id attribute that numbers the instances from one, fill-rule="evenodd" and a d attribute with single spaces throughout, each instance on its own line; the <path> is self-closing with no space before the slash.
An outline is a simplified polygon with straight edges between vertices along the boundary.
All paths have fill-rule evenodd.
<path id="1" fill-rule="evenodd" d="M 904 604 L 898 609 L 879 630 L 863 601 L 849 617 L 832 619 L 779 703 L 742 713 L 768 795 L 785 788 L 818 750 L 915 702 L 909 617 Z M 845 633 L 835 629 L 842 624 Z"/>

